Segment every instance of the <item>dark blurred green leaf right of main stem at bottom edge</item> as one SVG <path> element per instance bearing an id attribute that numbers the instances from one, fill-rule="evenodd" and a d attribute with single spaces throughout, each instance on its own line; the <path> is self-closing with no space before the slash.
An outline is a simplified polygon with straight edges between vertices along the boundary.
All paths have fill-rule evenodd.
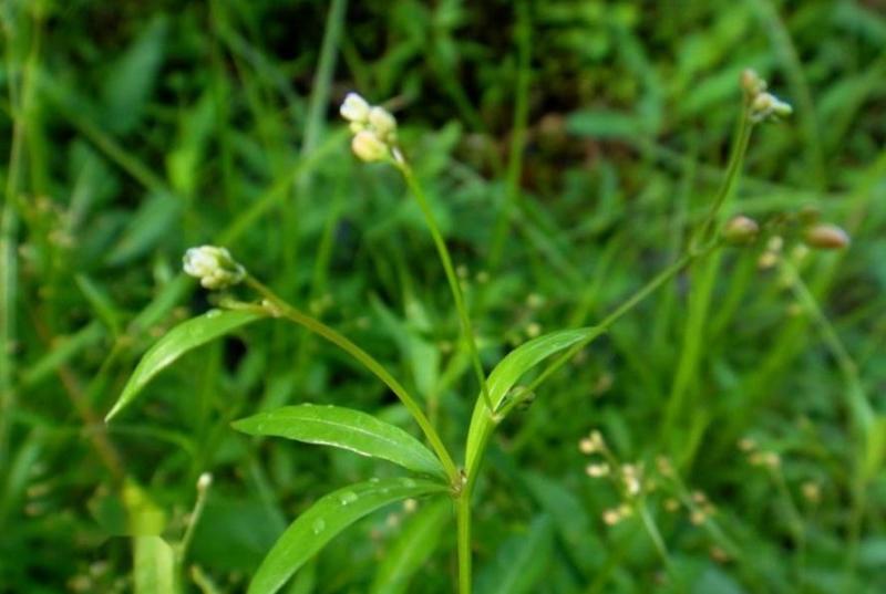
<path id="1" fill-rule="evenodd" d="M 537 517 L 526 534 L 507 539 L 495 560 L 477 577 L 478 594 L 537 592 L 553 549 L 553 530 L 546 515 Z"/>

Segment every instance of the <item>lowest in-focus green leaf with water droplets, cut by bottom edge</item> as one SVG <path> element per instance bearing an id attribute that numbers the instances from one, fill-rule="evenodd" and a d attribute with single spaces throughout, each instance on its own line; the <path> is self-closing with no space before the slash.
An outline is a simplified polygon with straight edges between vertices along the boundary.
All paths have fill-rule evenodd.
<path id="1" fill-rule="evenodd" d="M 318 500 L 277 540 L 249 584 L 249 594 L 272 594 L 342 530 L 364 515 L 410 497 L 442 493 L 437 482 L 382 479 L 360 482 Z"/>

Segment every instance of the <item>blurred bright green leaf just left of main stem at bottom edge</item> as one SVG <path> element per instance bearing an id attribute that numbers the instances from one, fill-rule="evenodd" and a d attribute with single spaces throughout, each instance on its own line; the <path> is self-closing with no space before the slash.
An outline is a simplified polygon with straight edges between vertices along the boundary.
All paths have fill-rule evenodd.
<path id="1" fill-rule="evenodd" d="M 434 501 L 415 512 L 375 573 L 371 594 L 402 594 L 412 576 L 436 549 L 440 533 L 452 518 L 452 502 Z"/>

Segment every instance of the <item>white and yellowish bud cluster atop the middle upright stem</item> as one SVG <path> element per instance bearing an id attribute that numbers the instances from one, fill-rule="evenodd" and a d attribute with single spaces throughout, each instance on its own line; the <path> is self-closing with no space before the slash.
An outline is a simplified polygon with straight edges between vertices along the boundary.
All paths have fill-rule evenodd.
<path id="1" fill-rule="evenodd" d="M 351 149 L 360 159 L 372 163 L 396 156 L 396 119 L 388 110 L 348 93 L 339 113 L 350 122 Z"/>

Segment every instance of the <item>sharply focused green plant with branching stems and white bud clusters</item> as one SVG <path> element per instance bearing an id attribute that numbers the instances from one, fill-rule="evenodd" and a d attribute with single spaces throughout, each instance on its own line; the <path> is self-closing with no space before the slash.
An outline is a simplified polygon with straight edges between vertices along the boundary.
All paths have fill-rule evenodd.
<path id="1" fill-rule="evenodd" d="M 749 146 L 755 124 L 775 116 L 790 114 L 790 106 L 765 91 L 765 83 L 752 71 L 742 76 L 744 103 L 729 168 L 721 188 L 699 222 L 688 242 L 686 252 L 662 270 L 645 286 L 625 300 L 598 324 L 568 329 L 537 336 L 508 353 L 486 376 L 478 356 L 471 315 L 453 268 L 452 258 L 437 228 L 433 210 L 422 190 L 416 175 L 403 155 L 396 136 L 396 122 L 382 107 L 369 105 L 362 97 L 350 94 L 341 108 L 353 133 L 354 154 L 365 161 L 382 161 L 396 168 L 416 200 L 436 247 L 446 273 L 449 288 L 457 310 L 462 342 L 468 353 L 478 383 L 480 394 L 474 405 L 465 440 L 465 459 L 456 465 L 453 456 L 437 434 L 415 397 L 398 382 L 375 358 L 338 331 L 318 319 L 293 308 L 268 286 L 251 277 L 224 248 L 205 246 L 188 250 L 185 271 L 212 290 L 225 290 L 243 282 L 251 289 L 258 301 L 241 301 L 231 294 L 218 300 L 220 310 L 213 310 L 188 320 L 169 331 L 142 358 L 107 420 L 127 406 L 145 384 L 185 352 L 223 336 L 235 329 L 262 319 L 282 319 L 302 326 L 326 338 L 353 357 L 384 383 L 396 395 L 421 428 L 430 444 L 429 450 L 406 431 L 365 413 L 339 406 L 301 404 L 262 411 L 234 423 L 240 431 L 255 436 L 277 436 L 297 441 L 343 448 L 403 467 L 412 477 L 400 479 L 372 479 L 337 490 L 318 500 L 302 513 L 280 536 L 268 553 L 251 581 L 250 593 L 278 591 L 313 554 L 334 535 L 363 515 L 394 501 L 409 498 L 450 498 L 457 517 L 459 585 L 462 594 L 472 591 L 472 496 L 481 473 L 490 437 L 507 416 L 534 398 L 535 392 L 553 373 L 580 350 L 608 330 L 659 286 L 689 265 L 696 265 L 725 242 L 748 243 L 756 238 L 758 225 L 738 217 L 721 222 L 721 212 L 729 201 Z M 839 247 L 838 230 L 818 228 L 813 241 L 820 247 Z M 824 229 L 824 230 L 822 230 Z M 807 233 L 810 235 L 810 233 Z M 825 237 L 827 236 L 827 237 Z M 839 236 L 839 237 L 838 237 Z M 823 239 L 824 238 L 824 239 Z M 844 238 L 845 239 L 845 238 Z M 823 243 L 828 243 L 824 246 Z M 845 241 L 844 241 L 845 243 Z M 558 355 L 528 385 L 519 379 L 533 368 Z M 599 447 L 599 446 L 598 446 Z M 591 445 L 591 449 L 594 448 Z M 608 450 L 605 450 L 608 452 Z M 607 454 L 611 458 L 611 454 Z M 615 466 L 615 462 L 612 462 Z M 599 472 L 599 470 L 595 470 Z M 639 483 L 635 471 L 624 477 L 629 481 L 629 494 L 638 494 Z M 205 484 L 202 492 L 205 491 Z M 433 509 L 440 509 L 435 507 Z M 641 513 L 650 538 L 661 551 L 660 535 L 648 512 Z M 188 538 L 184 542 L 188 542 Z M 186 549 L 186 544 L 183 546 Z"/>

